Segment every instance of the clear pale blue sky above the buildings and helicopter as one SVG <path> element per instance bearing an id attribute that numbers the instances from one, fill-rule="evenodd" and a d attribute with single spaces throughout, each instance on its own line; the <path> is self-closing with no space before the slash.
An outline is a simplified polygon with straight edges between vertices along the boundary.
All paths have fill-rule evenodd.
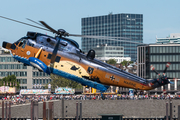
<path id="1" fill-rule="evenodd" d="M 81 18 L 107 15 L 110 12 L 143 14 L 143 41 L 155 43 L 156 36 L 164 38 L 180 33 L 180 0 L 0 0 L 0 16 L 34 24 L 43 20 L 54 29 L 81 34 Z M 0 18 L 2 41 L 14 42 L 27 31 L 47 33 L 37 28 Z M 74 38 L 81 45 L 81 38 Z"/>

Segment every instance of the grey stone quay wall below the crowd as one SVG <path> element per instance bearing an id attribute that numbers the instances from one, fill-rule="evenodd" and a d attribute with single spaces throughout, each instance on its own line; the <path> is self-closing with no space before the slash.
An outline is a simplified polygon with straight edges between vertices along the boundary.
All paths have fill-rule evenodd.
<path id="1" fill-rule="evenodd" d="M 80 100 L 56 100 L 54 103 L 54 118 L 73 118 L 76 116 L 76 102 Z M 125 118 L 162 118 L 166 115 L 166 103 L 170 115 L 169 100 L 82 100 L 83 118 L 100 118 L 98 114 L 122 114 Z M 64 104 L 63 104 L 64 103 Z M 172 117 L 178 117 L 180 100 L 172 100 Z M 43 117 L 43 103 L 38 103 L 39 118 Z M 46 102 L 46 109 L 48 102 Z M 12 118 L 30 118 L 30 104 L 13 105 Z M 78 106 L 80 109 L 80 106 Z M 78 111 L 80 113 L 80 111 Z M 64 115 L 63 115 L 64 114 Z M 0 108 L 2 117 L 2 108 Z"/>

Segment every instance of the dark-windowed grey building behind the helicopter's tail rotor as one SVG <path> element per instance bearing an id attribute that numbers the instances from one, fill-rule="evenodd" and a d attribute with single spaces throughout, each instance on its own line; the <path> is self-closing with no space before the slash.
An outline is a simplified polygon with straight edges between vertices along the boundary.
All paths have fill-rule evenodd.
<path id="1" fill-rule="evenodd" d="M 146 79 L 158 78 L 155 72 L 150 70 L 153 65 L 161 75 L 164 72 L 166 64 L 171 63 L 167 69 L 166 76 L 174 84 L 168 84 L 153 90 L 155 93 L 162 93 L 165 89 L 170 94 L 180 90 L 180 44 L 150 44 L 139 45 L 137 48 L 137 75 Z"/>

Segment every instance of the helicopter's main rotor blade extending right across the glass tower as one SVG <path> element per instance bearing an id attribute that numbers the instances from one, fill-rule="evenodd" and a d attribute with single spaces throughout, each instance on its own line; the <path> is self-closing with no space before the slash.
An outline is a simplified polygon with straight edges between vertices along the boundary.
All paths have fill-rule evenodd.
<path id="1" fill-rule="evenodd" d="M 129 43 L 136 43 L 136 44 L 145 44 L 139 42 L 128 41 L 130 38 L 125 37 L 111 37 L 111 36 L 93 36 L 93 35 L 76 35 L 76 34 L 69 34 L 69 36 L 73 37 L 82 37 L 82 38 L 93 38 L 93 39 L 103 39 L 103 40 L 113 40 L 113 41 L 122 41 L 122 42 L 129 42 Z M 122 40 L 123 39 L 123 40 Z M 127 40 L 125 40 L 127 39 Z"/>

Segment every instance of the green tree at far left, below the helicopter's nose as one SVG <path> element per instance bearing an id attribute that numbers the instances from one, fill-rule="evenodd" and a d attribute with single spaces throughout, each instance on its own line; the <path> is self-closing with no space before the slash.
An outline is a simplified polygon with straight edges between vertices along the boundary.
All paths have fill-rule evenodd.
<path id="1" fill-rule="evenodd" d="M 8 75 L 7 77 L 4 77 L 3 79 L 0 79 L 0 85 L 1 86 L 9 86 L 9 87 L 16 87 L 20 88 L 19 83 L 17 82 L 15 75 Z"/>

